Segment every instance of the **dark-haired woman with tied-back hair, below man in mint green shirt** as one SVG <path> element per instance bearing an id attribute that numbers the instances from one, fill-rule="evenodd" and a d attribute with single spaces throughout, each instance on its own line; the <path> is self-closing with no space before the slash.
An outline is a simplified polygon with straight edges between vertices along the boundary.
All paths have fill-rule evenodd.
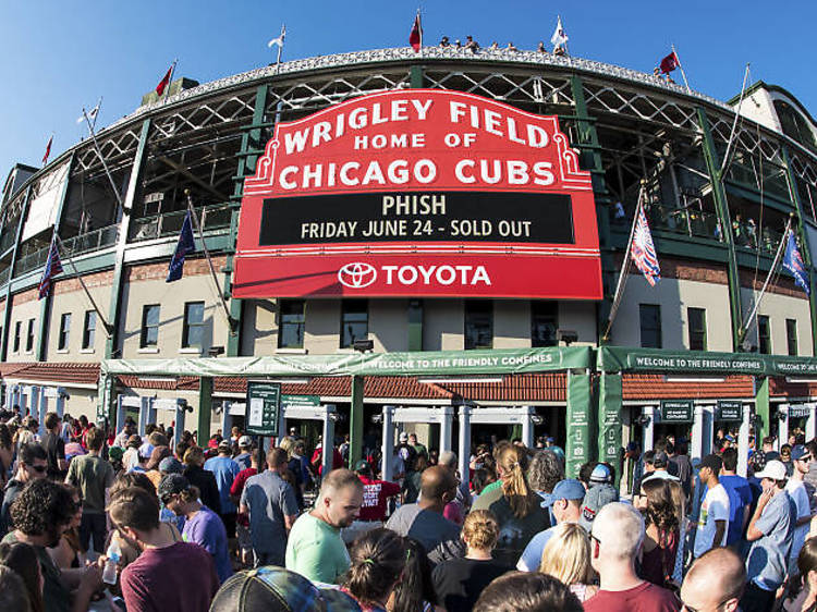
<path id="1" fill-rule="evenodd" d="M 349 556 L 343 590 L 357 600 L 364 612 L 386 612 L 405 568 L 403 538 L 389 529 L 373 529 L 354 541 Z"/>

